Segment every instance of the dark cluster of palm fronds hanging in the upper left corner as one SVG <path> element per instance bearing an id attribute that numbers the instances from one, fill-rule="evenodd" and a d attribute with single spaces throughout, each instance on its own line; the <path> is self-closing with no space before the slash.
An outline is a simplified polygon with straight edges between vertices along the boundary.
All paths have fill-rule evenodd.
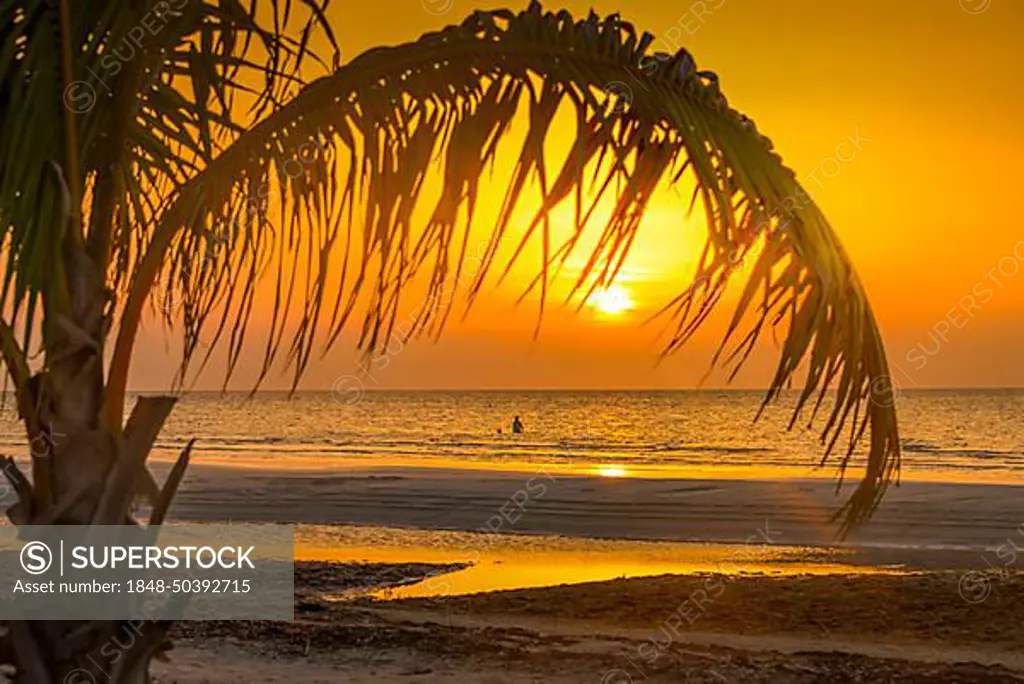
<path id="1" fill-rule="evenodd" d="M 161 198 L 290 97 L 315 58 L 314 29 L 333 43 L 316 0 L 295 4 L 304 14 L 273 0 L 0 6 L 0 310 L 22 320 L 27 349 L 39 299 L 74 277 L 59 248 L 69 230 L 61 204 L 82 209 L 76 238 L 112 294 L 124 291 L 166 208 Z M 63 130 L 69 113 L 74 140 Z M 71 147 L 79 173 L 61 168 Z"/>

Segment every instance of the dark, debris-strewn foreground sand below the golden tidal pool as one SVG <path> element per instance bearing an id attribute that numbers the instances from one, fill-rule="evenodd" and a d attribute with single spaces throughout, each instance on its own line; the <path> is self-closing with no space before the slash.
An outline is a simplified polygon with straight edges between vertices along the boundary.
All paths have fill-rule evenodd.
<path id="1" fill-rule="evenodd" d="M 658 576 L 446 600 L 325 601 L 380 565 L 297 569 L 292 623 L 186 623 L 163 684 L 1024 681 L 1024 578 Z M 404 576 L 424 568 L 390 568 Z M 696 607 L 695 607 L 696 606 Z"/>

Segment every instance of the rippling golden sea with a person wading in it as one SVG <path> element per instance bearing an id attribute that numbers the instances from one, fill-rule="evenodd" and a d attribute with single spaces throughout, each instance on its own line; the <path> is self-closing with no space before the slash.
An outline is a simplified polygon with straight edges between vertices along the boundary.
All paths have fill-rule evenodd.
<path id="1" fill-rule="evenodd" d="M 822 417 L 785 430 L 795 396 L 755 422 L 757 391 L 195 392 L 175 408 L 156 456 L 173 458 L 197 437 L 196 463 L 255 468 L 830 476 L 817 467 Z M 1024 482 L 1024 390 L 905 391 L 897 409 L 903 479 Z M 515 416 L 523 434 L 511 434 Z M 26 452 L 10 401 L 0 444 Z"/>

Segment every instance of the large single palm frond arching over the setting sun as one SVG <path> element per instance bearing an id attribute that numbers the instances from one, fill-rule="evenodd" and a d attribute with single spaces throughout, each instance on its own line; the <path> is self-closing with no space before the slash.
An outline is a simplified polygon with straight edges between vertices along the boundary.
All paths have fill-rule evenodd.
<path id="1" fill-rule="evenodd" d="M 110 400 L 119 405 L 123 396 L 141 310 L 158 279 L 169 279 L 182 302 L 183 369 L 207 329 L 215 342 L 226 341 L 229 377 L 267 264 L 276 287 L 264 374 L 285 353 L 298 382 L 316 340 L 329 347 L 359 309 L 360 347 L 386 344 L 417 273 L 427 277 L 428 295 L 402 334 L 439 330 L 452 307 L 444 284 L 464 275 L 481 176 L 522 104 L 528 131 L 470 303 L 495 266 L 511 266 L 498 263 L 497 246 L 532 181 L 541 207 L 512 261 L 524 245 L 541 244 L 543 267 L 531 287 L 543 301 L 598 202 L 611 199 L 614 210 L 577 282 L 585 295 L 616 275 L 655 188 L 691 176 L 709 237 L 693 285 L 667 308 L 677 324 L 667 351 L 716 308 L 736 279 L 737 255 L 758 254 L 721 351 L 738 368 L 766 327 L 786 328 L 765 403 L 801 368 L 807 376 L 794 421 L 809 404 L 813 418 L 834 392 L 822 463 L 847 435 L 836 457 L 841 479 L 869 430 L 865 474 L 843 511 L 844 529 L 862 521 L 897 474 L 900 456 L 885 351 L 864 289 L 824 216 L 771 142 L 728 106 L 715 75 L 698 71 L 684 50 L 650 55 L 652 40 L 617 15 L 575 20 L 534 2 L 519 13 L 476 12 L 414 43 L 371 50 L 310 83 L 209 160 L 161 212 L 130 282 Z M 632 80 L 642 87 L 624 112 L 602 96 L 606 84 Z M 575 113 L 575 139 L 564 163 L 549 168 L 545 142 L 562 106 Z M 414 230 L 437 156 L 443 188 L 426 207 L 426 227 Z M 588 181 L 596 191 L 585 201 Z M 276 183 L 280 214 L 254 211 L 261 188 Z M 573 234 L 552 245 L 548 214 L 573 200 Z"/>

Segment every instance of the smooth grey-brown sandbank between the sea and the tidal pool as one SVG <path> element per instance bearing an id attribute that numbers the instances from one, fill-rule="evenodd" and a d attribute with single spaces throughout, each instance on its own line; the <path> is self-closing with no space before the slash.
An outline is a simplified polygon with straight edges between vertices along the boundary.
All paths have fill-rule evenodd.
<path id="1" fill-rule="evenodd" d="M 294 471 L 194 466 L 179 520 L 482 529 L 742 543 L 769 521 L 787 545 L 830 545 L 844 501 L 827 479 L 643 479 L 432 468 Z M 1024 523 L 1024 486 L 904 482 L 852 544 L 983 549 Z M 1024 539 L 1024 538 L 1022 538 Z"/>

